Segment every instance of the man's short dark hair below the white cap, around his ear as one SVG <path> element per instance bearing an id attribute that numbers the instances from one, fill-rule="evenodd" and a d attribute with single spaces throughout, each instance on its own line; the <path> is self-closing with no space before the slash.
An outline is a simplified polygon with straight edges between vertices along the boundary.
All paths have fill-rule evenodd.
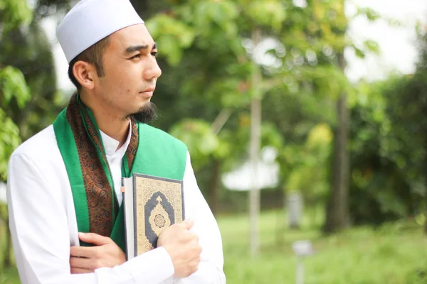
<path id="1" fill-rule="evenodd" d="M 107 48 L 108 38 L 108 36 L 106 38 L 102 38 L 102 40 L 90 46 L 70 61 L 70 65 L 68 65 L 68 77 L 70 78 L 71 82 L 73 82 L 78 91 L 80 91 L 82 85 L 78 82 L 77 79 L 75 79 L 73 74 L 73 67 L 75 62 L 81 60 L 93 64 L 95 65 L 97 75 L 99 77 L 104 76 L 105 74 L 104 65 L 102 64 L 102 55 L 104 55 L 105 48 Z"/>

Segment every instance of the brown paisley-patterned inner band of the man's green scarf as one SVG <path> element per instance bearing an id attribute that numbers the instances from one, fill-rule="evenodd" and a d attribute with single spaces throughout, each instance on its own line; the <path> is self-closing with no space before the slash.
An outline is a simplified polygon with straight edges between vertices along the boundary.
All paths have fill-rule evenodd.
<path id="1" fill-rule="evenodd" d="M 119 211 L 119 204 L 100 131 L 92 112 L 83 105 L 78 94 L 73 94 L 71 97 L 66 118 L 73 131 L 80 160 L 88 206 L 89 231 L 110 236 Z M 132 169 L 137 147 L 138 129 L 132 119 L 132 135 L 126 151 L 126 160 L 123 158 L 122 175 L 124 171 L 130 172 Z M 79 212 L 76 214 L 78 215 Z"/>

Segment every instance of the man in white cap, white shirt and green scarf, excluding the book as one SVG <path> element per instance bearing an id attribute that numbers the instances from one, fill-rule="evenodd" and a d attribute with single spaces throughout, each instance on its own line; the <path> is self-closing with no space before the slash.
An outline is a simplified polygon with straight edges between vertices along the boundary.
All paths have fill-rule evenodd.
<path id="1" fill-rule="evenodd" d="M 221 235 L 186 147 L 144 124 L 161 70 L 142 19 L 129 0 L 83 0 L 57 35 L 78 92 L 9 161 L 22 283 L 225 283 Z M 120 186 L 133 172 L 183 180 L 187 220 L 126 261 Z"/>

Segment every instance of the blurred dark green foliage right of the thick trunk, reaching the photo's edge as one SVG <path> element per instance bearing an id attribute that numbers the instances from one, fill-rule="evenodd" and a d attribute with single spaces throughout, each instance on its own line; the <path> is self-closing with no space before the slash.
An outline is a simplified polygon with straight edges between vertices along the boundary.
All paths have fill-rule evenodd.
<path id="1" fill-rule="evenodd" d="M 427 36 L 419 42 L 415 74 L 359 86 L 351 131 L 355 224 L 426 222 Z"/>

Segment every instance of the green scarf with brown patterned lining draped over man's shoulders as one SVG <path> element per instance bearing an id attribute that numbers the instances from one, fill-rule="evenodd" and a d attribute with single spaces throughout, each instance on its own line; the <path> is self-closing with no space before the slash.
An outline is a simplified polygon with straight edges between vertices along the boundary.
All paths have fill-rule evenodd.
<path id="1" fill-rule="evenodd" d="M 122 163 L 122 177 L 132 173 L 182 180 L 186 146 L 169 134 L 132 120 L 132 134 Z M 95 118 L 80 102 L 70 99 L 53 123 L 73 192 L 79 232 L 92 232 L 110 238 L 125 251 L 125 222 L 105 148 Z M 80 245 L 88 246 L 80 241 Z"/>

